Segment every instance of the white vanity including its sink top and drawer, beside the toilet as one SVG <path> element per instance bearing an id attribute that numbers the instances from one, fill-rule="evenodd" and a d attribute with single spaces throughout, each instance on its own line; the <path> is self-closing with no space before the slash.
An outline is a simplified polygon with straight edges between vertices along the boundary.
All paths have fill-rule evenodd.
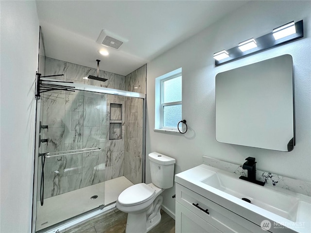
<path id="1" fill-rule="evenodd" d="M 239 177 L 204 164 L 176 174 L 176 233 L 311 233 L 311 197 Z"/>

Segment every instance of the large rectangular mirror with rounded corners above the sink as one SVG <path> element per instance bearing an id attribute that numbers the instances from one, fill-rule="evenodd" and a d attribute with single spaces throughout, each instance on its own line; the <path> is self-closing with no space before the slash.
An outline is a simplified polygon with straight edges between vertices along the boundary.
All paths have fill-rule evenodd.
<path id="1" fill-rule="evenodd" d="M 215 77 L 216 140 L 269 150 L 294 149 L 294 75 L 289 54 Z"/>

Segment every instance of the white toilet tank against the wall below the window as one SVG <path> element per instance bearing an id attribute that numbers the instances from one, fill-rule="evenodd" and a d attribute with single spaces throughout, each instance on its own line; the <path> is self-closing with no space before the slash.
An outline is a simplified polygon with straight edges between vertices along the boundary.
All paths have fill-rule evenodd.
<path id="1" fill-rule="evenodd" d="M 151 182 L 159 188 L 173 187 L 175 159 L 157 152 L 152 152 L 148 156 Z"/>

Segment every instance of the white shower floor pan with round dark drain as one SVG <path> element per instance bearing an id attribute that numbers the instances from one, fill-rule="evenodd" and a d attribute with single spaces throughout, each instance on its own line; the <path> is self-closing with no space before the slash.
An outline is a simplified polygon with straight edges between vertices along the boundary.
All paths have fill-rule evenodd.
<path id="1" fill-rule="evenodd" d="M 62 222 L 73 216 L 115 202 L 121 192 L 133 183 L 124 176 L 80 188 L 68 193 L 44 200 L 44 205 L 37 201 L 36 231 Z M 96 199 L 91 199 L 94 195 Z"/>

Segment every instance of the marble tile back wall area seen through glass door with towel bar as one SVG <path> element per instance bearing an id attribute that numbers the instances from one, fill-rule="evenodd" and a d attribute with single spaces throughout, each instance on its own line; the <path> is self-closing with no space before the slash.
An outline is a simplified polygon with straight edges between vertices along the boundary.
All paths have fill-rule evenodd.
<path id="1" fill-rule="evenodd" d="M 102 151 L 47 158 L 44 167 L 45 198 L 105 181 L 109 112 L 105 94 L 91 92 L 48 92 L 41 95 L 43 124 L 41 133 L 48 143 L 42 152 L 84 148 Z"/>

